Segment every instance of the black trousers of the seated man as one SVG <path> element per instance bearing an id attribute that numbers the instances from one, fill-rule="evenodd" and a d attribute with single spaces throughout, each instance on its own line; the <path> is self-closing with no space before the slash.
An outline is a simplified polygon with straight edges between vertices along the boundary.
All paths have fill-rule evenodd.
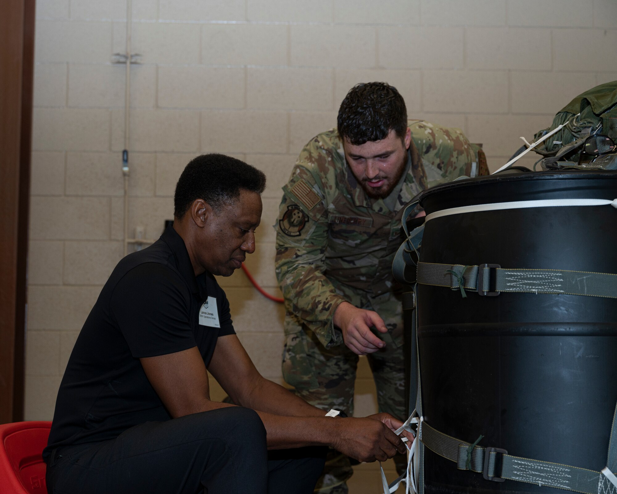
<path id="1" fill-rule="evenodd" d="M 117 438 L 52 451 L 49 494 L 311 494 L 326 448 L 266 449 L 253 410 L 146 422 Z"/>

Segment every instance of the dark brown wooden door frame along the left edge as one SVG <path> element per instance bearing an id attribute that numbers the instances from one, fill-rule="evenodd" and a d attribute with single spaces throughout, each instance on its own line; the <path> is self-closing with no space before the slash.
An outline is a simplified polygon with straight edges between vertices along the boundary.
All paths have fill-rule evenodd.
<path id="1" fill-rule="evenodd" d="M 23 420 L 35 0 L 0 6 L 0 424 Z"/>

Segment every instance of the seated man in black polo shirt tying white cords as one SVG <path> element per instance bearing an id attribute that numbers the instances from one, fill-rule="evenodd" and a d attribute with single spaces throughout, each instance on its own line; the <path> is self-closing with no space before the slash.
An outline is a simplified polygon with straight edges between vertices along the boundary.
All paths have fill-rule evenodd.
<path id="1" fill-rule="evenodd" d="M 264 188 L 251 165 L 196 157 L 173 227 L 115 267 L 60 385 L 50 494 L 310 493 L 323 446 L 360 461 L 405 451 L 400 421 L 325 416 L 263 379 L 236 337 L 213 275 L 255 251 Z M 206 369 L 241 406 L 210 400 Z"/>

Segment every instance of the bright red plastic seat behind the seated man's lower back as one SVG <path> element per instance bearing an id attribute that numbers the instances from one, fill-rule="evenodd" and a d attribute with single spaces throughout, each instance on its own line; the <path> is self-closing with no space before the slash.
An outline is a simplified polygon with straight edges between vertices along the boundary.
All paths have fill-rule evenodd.
<path id="1" fill-rule="evenodd" d="M 0 492 L 46 494 L 47 446 L 51 422 L 14 422 L 0 425 Z"/>

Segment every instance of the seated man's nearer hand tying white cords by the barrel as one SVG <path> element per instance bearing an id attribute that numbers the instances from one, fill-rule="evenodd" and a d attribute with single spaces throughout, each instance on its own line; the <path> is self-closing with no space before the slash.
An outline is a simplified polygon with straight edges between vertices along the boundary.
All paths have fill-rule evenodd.
<path id="1" fill-rule="evenodd" d="M 358 461 L 386 461 L 397 452 L 405 453 L 405 443 L 382 420 L 373 418 L 387 414 L 377 414 L 358 419 L 349 417 L 334 418 L 336 421 L 335 439 L 332 446 Z M 394 418 L 394 417 L 392 417 Z M 334 424 L 333 424 L 334 425 Z M 399 426 L 400 427 L 400 426 Z"/>

